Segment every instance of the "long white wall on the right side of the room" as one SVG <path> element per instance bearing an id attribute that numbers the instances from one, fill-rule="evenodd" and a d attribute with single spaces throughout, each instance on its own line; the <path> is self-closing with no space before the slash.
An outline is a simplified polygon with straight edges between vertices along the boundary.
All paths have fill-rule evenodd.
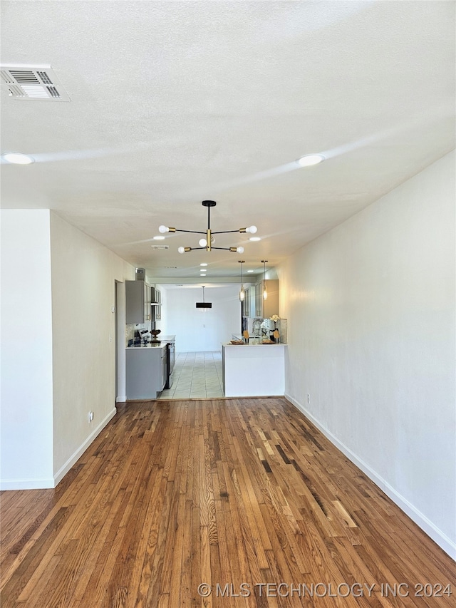
<path id="1" fill-rule="evenodd" d="M 287 396 L 456 556 L 455 154 L 294 254 L 279 280 Z"/>

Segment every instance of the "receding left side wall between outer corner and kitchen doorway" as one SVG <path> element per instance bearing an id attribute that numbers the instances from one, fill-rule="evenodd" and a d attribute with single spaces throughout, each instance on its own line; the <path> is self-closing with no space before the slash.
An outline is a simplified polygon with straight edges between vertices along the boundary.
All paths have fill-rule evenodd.
<path id="1" fill-rule="evenodd" d="M 53 213 L 51 264 L 58 481 L 115 415 L 115 282 L 134 279 L 135 269 Z"/>

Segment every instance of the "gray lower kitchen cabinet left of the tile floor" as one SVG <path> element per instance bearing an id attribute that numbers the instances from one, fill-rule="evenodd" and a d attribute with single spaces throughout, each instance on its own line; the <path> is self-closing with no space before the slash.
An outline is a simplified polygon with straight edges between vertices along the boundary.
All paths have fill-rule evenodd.
<path id="1" fill-rule="evenodd" d="M 126 349 L 127 399 L 156 399 L 166 383 L 166 344 Z"/>

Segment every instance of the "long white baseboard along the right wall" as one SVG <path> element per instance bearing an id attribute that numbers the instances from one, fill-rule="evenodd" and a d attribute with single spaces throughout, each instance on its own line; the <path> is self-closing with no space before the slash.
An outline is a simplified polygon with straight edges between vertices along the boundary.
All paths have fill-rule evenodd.
<path id="1" fill-rule="evenodd" d="M 328 431 L 325 426 L 318 422 L 318 420 L 314 418 L 314 416 L 308 410 L 306 410 L 306 408 L 301 405 L 301 403 L 298 403 L 298 401 L 296 401 L 289 395 L 285 395 L 285 398 L 288 399 L 288 401 L 290 401 L 291 403 L 293 403 L 295 408 L 298 409 L 301 413 L 303 413 L 306 418 L 309 418 L 311 423 L 313 423 L 316 428 L 318 428 L 318 430 L 321 431 L 321 433 L 323 433 L 323 435 L 328 438 L 331 443 L 333 443 L 333 445 L 336 445 L 336 448 L 341 450 L 341 452 L 345 454 L 346 457 L 351 460 L 353 464 L 360 468 L 363 473 L 366 473 L 368 478 L 371 479 L 373 483 L 378 485 L 380 490 L 383 490 L 383 492 L 391 500 L 393 500 L 393 503 L 398 505 L 398 507 L 400 507 L 400 509 L 402 509 L 403 512 L 405 512 L 408 517 L 410 517 L 410 519 L 413 520 L 415 524 L 421 528 L 421 530 L 423 530 L 423 532 L 425 532 L 430 538 L 432 538 L 432 540 L 434 540 L 437 545 L 439 545 L 439 547 L 441 547 L 442 550 L 445 551 L 445 553 L 450 555 L 453 560 L 456 560 L 455 542 L 453 542 L 449 537 L 447 537 L 447 535 L 442 532 L 442 530 L 437 528 L 430 520 L 428 520 L 422 512 L 420 512 L 416 507 L 409 503 L 409 501 L 404 498 L 403 495 L 398 493 L 398 491 L 395 490 L 388 483 L 388 481 L 378 475 L 378 473 L 376 473 L 375 470 L 373 470 L 368 464 L 361 460 L 361 458 L 358 458 L 358 456 L 353 453 L 351 449 L 348 448 L 344 443 L 338 440 L 338 438 L 334 436 L 331 431 Z"/>

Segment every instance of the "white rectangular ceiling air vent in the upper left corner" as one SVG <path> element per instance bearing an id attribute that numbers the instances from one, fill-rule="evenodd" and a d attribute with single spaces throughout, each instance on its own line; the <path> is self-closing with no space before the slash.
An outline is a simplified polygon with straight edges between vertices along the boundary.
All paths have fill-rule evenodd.
<path id="1" fill-rule="evenodd" d="M 22 101 L 71 101 L 51 66 L 0 66 L 1 85 L 9 97 Z"/>

